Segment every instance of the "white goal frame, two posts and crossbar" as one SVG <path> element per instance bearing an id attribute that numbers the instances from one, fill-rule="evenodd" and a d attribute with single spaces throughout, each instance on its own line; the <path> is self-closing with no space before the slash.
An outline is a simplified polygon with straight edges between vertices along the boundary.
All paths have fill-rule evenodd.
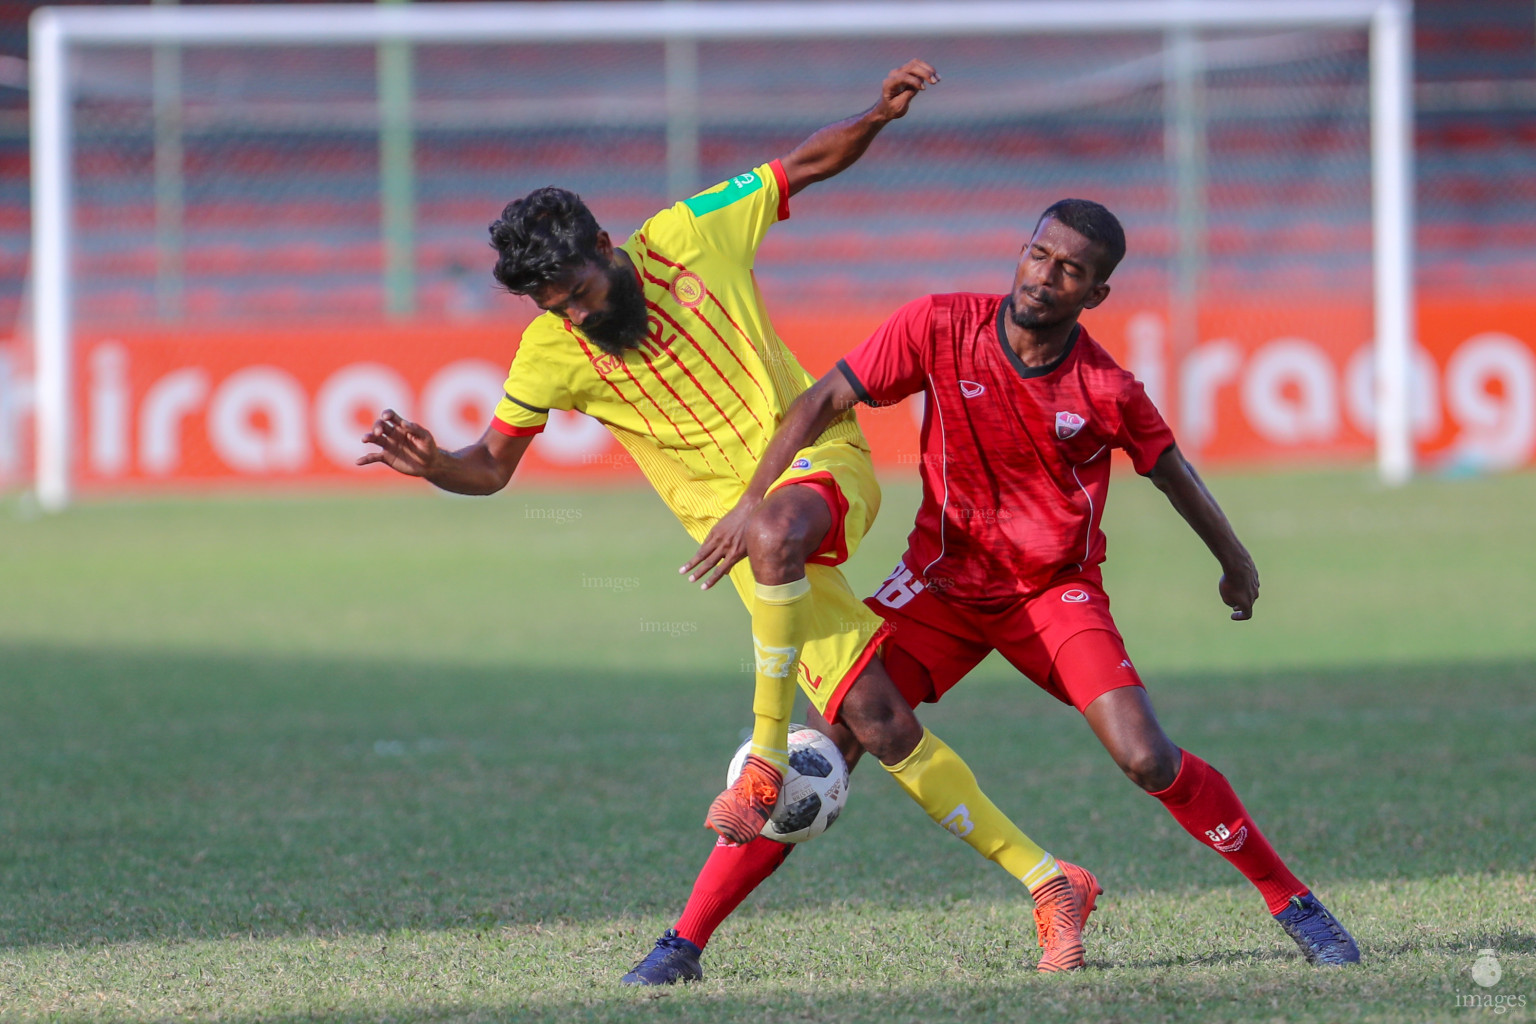
<path id="1" fill-rule="evenodd" d="M 78 45 L 938 38 L 1064 32 L 1356 28 L 1370 34 L 1370 192 L 1381 479 L 1413 471 L 1412 0 L 630 2 L 41 8 L 31 21 L 35 474 L 72 491 L 71 49 Z"/>

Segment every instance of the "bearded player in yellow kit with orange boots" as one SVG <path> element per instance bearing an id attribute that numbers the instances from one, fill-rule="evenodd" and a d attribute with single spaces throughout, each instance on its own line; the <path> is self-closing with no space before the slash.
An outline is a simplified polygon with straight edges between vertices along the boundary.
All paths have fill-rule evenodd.
<path id="1" fill-rule="evenodd" d="M 865 114 L 662 210 L 621 246 L 564 189 L 508 203 L 490 226 L 493 273 L 544 315 L 522 335 L 495 419 L 476 444 L 450 453 L 425 428 L 386 410 L 364 438 L 378 451 L 358 462 L 490 494 L 511 479 L 551 408 L 601 421 L 696 542 L 717 527 L 714 536 L 745 537 L 746 560 L 730 576 L 753 622 L 753 746 L 736 786 L 710 806 L 705 824 L 720 841 L 705 875 L 716 861 L 730 874 L 733 857 L 760 855 L 745 851 L 760 851 L 750 840 L 777 800 L 799 682 L 819 715 L 846 725 L 934 821 L 1023 881 L 1037 904 L 1078 923 L 1055 929 L 1041 958 L 1041 970 L 1072 969 L 1083 964 L 1080 923 L 1092 894 L 1081 881 L 1086 872 L 1069 866 L 1081 872 L 1069 880 L 982 794 L 965 761 L 923 729 L 876 657 L 880 617 L 836 568 L 880 505 L 852 413 L 799 451 L 763 493 L 740 500 L 774 428 L 813 382 L 768 319 L 753 278 L 757 246 L 790 216 L 794 193 L 851 166 L 937 81 L 932 66 L 908 61 L 885 78 Z M 727 516 L 745 519 L 745 530 L 722 524 Z M 682 571 L 705 577 L 697 563 Z M 653 955 L 670 964 L 660 979 L 697 976 L 697 952 L 668 932 Z"/>

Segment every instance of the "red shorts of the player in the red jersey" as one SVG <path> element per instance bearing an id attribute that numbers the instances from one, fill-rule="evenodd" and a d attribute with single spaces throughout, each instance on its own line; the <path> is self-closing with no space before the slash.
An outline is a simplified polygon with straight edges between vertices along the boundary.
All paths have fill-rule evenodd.
<path id="1" fill-rule="evenodd" d="M 914 708 L 937 702 L 992 651 L 1078 711 L 1111 689 L 1141 686 L 1097 570 L 975 611 L 923 588 L 903 562 L 865 603 L 891 628 L 882 660 Z"/>

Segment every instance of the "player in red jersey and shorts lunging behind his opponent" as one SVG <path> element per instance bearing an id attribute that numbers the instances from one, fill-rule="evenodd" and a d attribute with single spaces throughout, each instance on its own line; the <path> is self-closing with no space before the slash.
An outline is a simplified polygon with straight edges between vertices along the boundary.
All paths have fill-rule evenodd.
<path id="1" fill-rule="evenodd" d="M 1140 381 L 1078 324 L 1109 295 L 1124 250 L 1120 221 L 1103 206 L 1051 206 L 1008 295 L 929 295 L 897 310 L 794 402 L 757 476 L 773 481 L 856 402 L 922 391 L 923 504 L 900 565 L 868 599 L 894 626 L 882 659 L 903 697 L 914 706 L 938 700 L 1001 651 L 1075 706 L 1135 785 L 1253 883 L 1310 963 L 1358 963 L 1353 938 L 1286 867 L 1226 777 L 1163 732 L 1109 614 L 1098 567 L 1114 448 L 1210 548 L 1232 619 L 1252 617 L 1258 599 L 1253 559 Z M 760 484 L 754 479 L 742 502 L 754 500 Z M 717 528 L 691 565 L 713 582 L 740 553 L 740 537 Z M 833 735 L 849 763 L 859 757 L 846 729 L 816 715 L 811 725 Z M 711 861 L 684 912 L 699 946 L 768 877 L 733 847 L 716 847 Z"/>

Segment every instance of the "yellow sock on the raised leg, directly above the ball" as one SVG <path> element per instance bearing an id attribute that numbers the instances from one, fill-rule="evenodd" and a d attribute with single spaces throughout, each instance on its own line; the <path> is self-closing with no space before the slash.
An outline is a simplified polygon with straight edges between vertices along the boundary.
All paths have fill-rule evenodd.
<path id="1" fill-rule="evenodd" d="M 753 691 L 753 749 L 779 771 L 790 768 L 790 712 L 794 709 L 794 669 L 809 629 L 811 580 L 803 576 L 776 586 L 757 583 L 753 602 L 753 652 L 757 688 Z"/>

